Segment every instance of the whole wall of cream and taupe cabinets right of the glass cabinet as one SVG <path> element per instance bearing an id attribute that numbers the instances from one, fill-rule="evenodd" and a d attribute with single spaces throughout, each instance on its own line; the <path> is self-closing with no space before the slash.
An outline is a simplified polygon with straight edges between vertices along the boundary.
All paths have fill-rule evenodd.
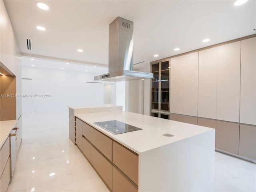
<path id="1" fill-rule="evenodd" d="M 217 150 L 256 161 L 256 35 L 170 61 L 170 120 L 215 128 Z"/>

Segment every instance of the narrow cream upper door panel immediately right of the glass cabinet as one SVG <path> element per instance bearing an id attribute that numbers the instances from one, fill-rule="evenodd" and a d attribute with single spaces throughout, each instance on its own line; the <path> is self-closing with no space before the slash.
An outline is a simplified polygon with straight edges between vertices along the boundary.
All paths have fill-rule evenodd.
<path id="1" fill-rule="evenodd" d="M 183 57 L 171 58 L 170 112 L 182 114 L 183 102 Z"/>

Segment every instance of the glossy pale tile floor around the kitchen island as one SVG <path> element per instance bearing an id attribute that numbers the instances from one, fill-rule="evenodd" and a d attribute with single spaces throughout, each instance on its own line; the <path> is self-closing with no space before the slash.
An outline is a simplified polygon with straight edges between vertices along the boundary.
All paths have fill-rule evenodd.
<path id="1" fill-rule="evenodd" d="M 9 192 L 108 191 L 68 138 L 68 109 L 23 112 L 22 116 L 23 141 Z M 215 155 L 215 181 L 205 192 L 256 191 L 256 164 L 219 152 Z"/>

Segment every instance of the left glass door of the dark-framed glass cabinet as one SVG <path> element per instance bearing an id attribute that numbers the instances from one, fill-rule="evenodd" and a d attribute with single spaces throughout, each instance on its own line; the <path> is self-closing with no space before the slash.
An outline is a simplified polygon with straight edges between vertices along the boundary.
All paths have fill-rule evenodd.
<path id="1" fill-rule="evenodd" d="M 152 73 L 154 77 L 151 84 L 151 109 L 158 110 L 159 105 L 159 63 L 152 64 Z"/>

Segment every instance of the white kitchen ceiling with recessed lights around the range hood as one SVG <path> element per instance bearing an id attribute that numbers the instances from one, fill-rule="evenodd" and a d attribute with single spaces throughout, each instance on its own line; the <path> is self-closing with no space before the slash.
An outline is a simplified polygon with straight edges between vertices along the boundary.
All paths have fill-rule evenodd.
<path id="1" fill-rule="evenodd" d="M 4 1 L 22 54 L 107 65 L 108 25 L 118 16 L 134 22 L 134 63 L 256 33 L 255 0 L 241 6 L 234 6 L 234 0 L 40 1 L 49 10 L 39 9 L 36 2 Z M 46 31 L 37 30 L 38 25 Z M 26 49 L 26 38 L 32 50 Z M 203 43 L 205 38 L 210 42 Z"/>

